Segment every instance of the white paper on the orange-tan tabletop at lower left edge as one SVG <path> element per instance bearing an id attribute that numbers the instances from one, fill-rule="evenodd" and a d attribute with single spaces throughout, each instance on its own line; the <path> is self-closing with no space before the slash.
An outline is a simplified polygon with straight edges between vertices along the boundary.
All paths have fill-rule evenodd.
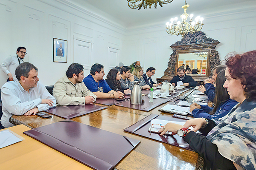
<path id="1" fill-rule="evenodd" d="M 12 132 L 11 130 L 0 131 L 0 148 L 23 141 L 24 138 Z"/>

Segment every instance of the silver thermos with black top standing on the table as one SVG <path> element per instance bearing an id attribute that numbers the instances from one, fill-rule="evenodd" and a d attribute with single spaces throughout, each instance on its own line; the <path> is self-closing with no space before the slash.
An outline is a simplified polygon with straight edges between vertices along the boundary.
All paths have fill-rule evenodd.
<path id="1" fill-rule="evenodd" d="M 141 105 L 142 104 L 142 89 L 140 87 L 140 82 L 134 82 L 134 88 L 131 91 L 130 104 Z"/>

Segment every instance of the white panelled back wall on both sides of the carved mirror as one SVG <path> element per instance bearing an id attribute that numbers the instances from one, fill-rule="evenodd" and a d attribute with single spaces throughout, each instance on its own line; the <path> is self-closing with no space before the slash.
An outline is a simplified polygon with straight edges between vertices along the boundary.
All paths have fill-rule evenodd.
<path id="1" fill-rule="evenodd" d="M 196 12 L 195 12 L 196 13 Z M 195 14 L 196 15 L 196 14 Z M 223 60 L 232 51 L 256 50 L 256 11 L 233 11 L 229 14 L 213 14 L 204 16 L 202 31 L 207 37 L 220 41 L 216 50 Z M 166 21 L 167 22 L 167 21 Z M 172 48 L 169 46 L 181 40 L 181 36 L 166 33 L 166 26 L 141 28 L 128 32 L 125 43 L 124 63 L 140 60 L 144 70 L 156 68 L 152 78 L 162 77 L 167 68 Z"/>

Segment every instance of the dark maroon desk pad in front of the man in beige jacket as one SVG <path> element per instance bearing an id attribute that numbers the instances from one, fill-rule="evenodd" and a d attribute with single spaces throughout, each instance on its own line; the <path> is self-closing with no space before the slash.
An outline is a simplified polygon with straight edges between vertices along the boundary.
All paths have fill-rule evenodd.
<path id="1" fill-rule="evenodd" d="M 45 112 L 54 114 L 56 116 L 62 117 L 64 119 L 72 119 L 78 116 L 82 116 L 95 111 L 100 111 L 105 109 L 104 106 L 98 105 L 77 105 L 77 106 L 57 106 L 55 108 L 50 108 L 45 110 Z"/>

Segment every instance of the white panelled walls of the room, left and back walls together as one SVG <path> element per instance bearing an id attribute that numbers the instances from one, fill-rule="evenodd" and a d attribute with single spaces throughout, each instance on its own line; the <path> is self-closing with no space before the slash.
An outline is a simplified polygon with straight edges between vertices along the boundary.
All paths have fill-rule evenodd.
<path id="1" fill-rule="evenodd" d="M 205 24 L 202 31 L 221 42 L 216 48 L 221 59 L 231 51 L 256 49 L 253 7 L 243 11 L 230 9 L 228 14 L 200 15 Z M 173 52 L 169 46 L 181 39 L 167 34 L 165 25 L 124 30 L 97 14 L 60 0 L 1 0 L 0 16 L 0 61 L 15 55 L 17 47 L 25 46 L 25 61 L 38 67 L 44 85 L 53 85 L 73 63 L 74 39 L 92 43 L 91 64 L 101 63 L 106 74 L 113 65 L 108 51 L 114 48 L 119 53 L 116 65 L 131 65 L 140 60 L 144 70 L 152 66 L 157 69 L 153 79 L 163 76 Z M 67 63 L 52 62 L 52 38 L 68 41 Z M 7 75 L 0 71 L 0 77 L 2 86 Z"/>

